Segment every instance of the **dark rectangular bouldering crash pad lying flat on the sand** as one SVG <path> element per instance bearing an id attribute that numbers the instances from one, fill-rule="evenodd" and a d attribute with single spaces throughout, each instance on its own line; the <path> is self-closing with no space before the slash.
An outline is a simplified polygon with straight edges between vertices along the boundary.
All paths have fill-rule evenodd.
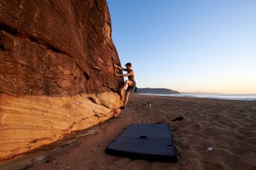
<path id="1" fill-rule="evenodd" d="M 177 161 L 168 123 L 131 124 L 108 145 L 105 153 L 148 161 Z"/>

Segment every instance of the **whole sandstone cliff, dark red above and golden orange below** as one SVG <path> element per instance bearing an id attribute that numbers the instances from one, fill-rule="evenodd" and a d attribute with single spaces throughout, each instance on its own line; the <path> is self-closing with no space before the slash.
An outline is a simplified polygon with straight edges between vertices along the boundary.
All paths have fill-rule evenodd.
<path id="1" fill-rule="evenodd" d="M 0 161 L 119 114 L 105 0 L 0 0 Z"/>

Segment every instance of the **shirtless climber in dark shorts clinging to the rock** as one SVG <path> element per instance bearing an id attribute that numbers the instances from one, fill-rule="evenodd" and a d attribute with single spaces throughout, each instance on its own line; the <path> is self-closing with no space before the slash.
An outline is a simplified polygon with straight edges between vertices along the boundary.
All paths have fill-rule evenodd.
<path id="1" fill-rule="evenodd" d="M 125 109 L 125 106 L 127 105 L 129 95 L 131 94 L 131 90 L 135 88 L 136 82 L 135 82 L 135 76 L 134 76 L 134 71 L 131 69 L 131 63 L 126 63 L 126 68 L 122 68 L 119 65 L 114 65 L 115 68 L 119 69 L 120 71 L 127 71 L 126 74 L 115 74 L 117 77 L 128 77 L 128 80 L 125 81 L 125 85 L 123 88 L 121 88 L 121 91 L 125 90 L 125 101 L 124 105 L 120 107 L 120 109 Z"/>

